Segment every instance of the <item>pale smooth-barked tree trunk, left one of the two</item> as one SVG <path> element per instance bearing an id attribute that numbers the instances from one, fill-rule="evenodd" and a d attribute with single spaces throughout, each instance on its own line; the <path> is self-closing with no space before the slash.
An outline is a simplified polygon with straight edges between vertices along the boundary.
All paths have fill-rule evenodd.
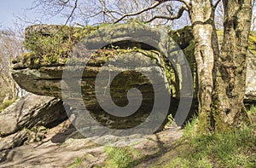
<path id="1" fill-rule="evenodd" d="M 189 16 L 195 38 L 195 61 L 198 75 L 200 131 L 212 130 L 212 92 L 215 81 L 214 63 L 218 58 L 218 38 L 211 0 L 191 1 Z"/>

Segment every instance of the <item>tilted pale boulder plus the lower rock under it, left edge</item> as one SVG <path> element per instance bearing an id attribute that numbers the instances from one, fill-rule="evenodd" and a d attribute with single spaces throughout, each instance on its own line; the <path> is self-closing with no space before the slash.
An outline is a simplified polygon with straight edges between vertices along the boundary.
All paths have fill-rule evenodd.
<path id="1" fill-rule="evenodd" d="M 67 119 L 62 101 L 31 93 L 0 113 L 0 151 L 20 146 L 37 127 L 52 127 Z"/>

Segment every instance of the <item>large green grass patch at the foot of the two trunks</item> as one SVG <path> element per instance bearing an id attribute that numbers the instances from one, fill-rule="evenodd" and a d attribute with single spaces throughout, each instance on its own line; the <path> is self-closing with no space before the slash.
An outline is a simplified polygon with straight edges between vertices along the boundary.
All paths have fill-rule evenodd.
<path id="1" fill-rule="evenodd" d="M 197 121 L 195 118 L 186 125 L 184 136 L 178 141 L 183 147 L 164 167 L 256 167 L 256 137 L 252 127 L 196 135 Z"/>

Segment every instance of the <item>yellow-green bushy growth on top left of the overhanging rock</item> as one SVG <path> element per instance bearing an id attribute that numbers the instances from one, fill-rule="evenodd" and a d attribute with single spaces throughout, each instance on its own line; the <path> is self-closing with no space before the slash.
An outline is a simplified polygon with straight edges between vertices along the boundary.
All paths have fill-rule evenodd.
<path id="1" fill-rule="evenodd" d="M 31 55 L 39 56 L 40 62 L 65 63 L 75 43 L 97 28 L 96 26 L 80 28 L 64 26 L 60 31 L 47 35 L 42 32 L 32 32 L 26 36 L 23 44 Z"/>

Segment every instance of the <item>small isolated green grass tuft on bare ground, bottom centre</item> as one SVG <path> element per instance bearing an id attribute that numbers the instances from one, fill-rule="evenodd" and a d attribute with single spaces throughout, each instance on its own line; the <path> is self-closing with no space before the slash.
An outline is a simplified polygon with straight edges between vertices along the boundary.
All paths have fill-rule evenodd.
<path id="1" fill-rule="evenodd" d="M 136 158 L 139 154 L 135 149 L 129 147 L 106 147 L 105 150 L 108 154 L 107 167 L 125 168 L 137 164 Z"/>

